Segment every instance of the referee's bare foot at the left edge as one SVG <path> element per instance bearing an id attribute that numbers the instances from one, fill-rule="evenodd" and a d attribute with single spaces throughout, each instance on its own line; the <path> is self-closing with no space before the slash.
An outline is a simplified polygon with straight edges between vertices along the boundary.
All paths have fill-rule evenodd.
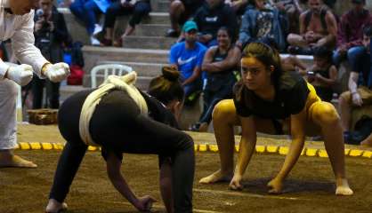
<path id="1" fill-rule="evenodd" d="M 2 167 L 20 167 L 20 168 L 36 168 L 34 162 L 28 162 L 18 155 L 12 154 L 11 151 L 0 152 L 0 168 Z"/>

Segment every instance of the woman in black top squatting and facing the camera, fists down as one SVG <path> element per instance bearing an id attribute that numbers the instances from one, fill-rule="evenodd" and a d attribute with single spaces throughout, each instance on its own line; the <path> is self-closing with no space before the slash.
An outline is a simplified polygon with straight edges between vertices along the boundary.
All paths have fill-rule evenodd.
<path id="1" fill-rule="evenodd" d="M 241 59 L 242 80 L 234 99 L 214 107 L 214 134 L 220 150 L 221 170 L 200 183 L 230 181 L 242 189 L 242 176 L 255 152 L 256 132 L 290 133 L 292 143 L 279 174 L 268 184 L 269 193 L 281 193 L 283 182 L 300 156 L 306 136 L 321 133 L 336 177 L 336 194 L 351 195 L 344 169 L 344 138 L 333 105 L 323 102 L 310 83 L 295 72 L 282 72 L 278 51 L 264 43 L 250 43 Z M 233 126 L 241 125 L 239 159 L 233 170 Z"/>

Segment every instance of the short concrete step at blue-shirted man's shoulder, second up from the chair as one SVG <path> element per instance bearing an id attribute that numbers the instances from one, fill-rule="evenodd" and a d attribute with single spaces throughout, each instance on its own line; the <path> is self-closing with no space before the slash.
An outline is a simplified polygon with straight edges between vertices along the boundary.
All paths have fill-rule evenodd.
<path id="1" fill-rule="evenodd" d="M 123 46 L 127 48 L 169 50 L 176 38 L 165 36 L 127 36 Z"/>

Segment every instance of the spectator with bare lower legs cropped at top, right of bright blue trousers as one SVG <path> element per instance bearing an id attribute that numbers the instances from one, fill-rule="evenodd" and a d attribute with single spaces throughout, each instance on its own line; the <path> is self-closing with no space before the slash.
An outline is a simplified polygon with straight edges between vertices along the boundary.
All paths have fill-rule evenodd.
<path id="1" fill-rule="evenodd" d="M 102 33 L 100 37 L 101 45 L 122 47 L 125 36 L 133 34 L 135 26 L 139 24 L 144 16 L 147 16 L 151 11 L 150 0 L 119 0 L 109 5 L 105 14 Z M 125 32 L 117 40 L 114 40 L 114 26 L 117 16 L 132 14 Z"/>

